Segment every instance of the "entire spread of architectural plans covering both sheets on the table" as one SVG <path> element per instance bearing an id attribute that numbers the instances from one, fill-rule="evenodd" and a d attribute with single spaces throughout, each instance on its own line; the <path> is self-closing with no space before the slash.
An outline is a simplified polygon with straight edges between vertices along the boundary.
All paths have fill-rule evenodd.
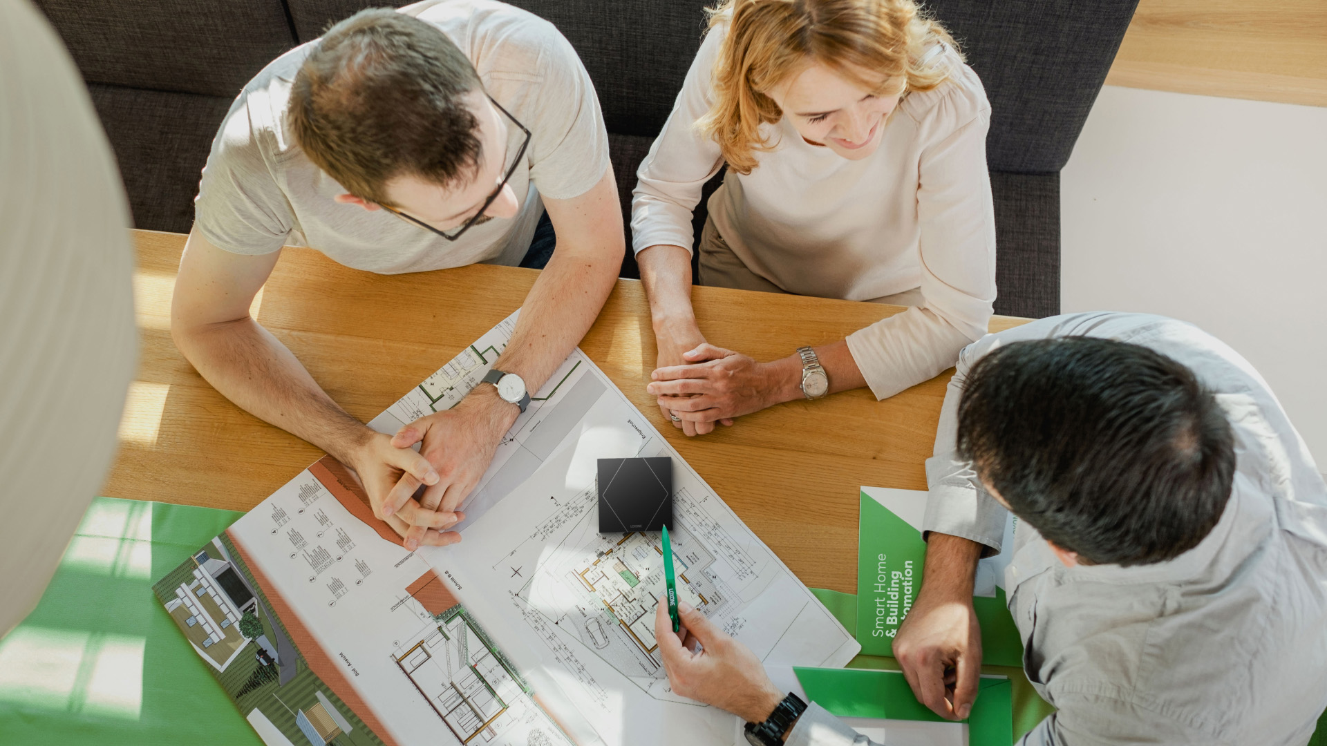
<path id="1" fill-rule="evenodd" d="M 516 315 L 370 422 L 459 402 Z M 597 532 L 598 458 L 673 459 L 686 601 L 771 665 L 860 645 L 579 349 L 463 503 L 463 540 L 409 552 L 330 457 L 154 592 L 268 746 L 742 743 L 736 717 L 673 694 L 654 638 L 656 532 Z"/>

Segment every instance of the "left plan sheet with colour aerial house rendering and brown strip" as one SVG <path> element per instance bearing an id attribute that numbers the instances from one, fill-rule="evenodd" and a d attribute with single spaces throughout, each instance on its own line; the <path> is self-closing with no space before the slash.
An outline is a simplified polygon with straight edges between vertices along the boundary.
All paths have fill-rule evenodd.
<path id="1" fill-rule="evenodd" d="M 155 587 L 264 742 L 571 746 L 349 481 L 314 463 Z"/>

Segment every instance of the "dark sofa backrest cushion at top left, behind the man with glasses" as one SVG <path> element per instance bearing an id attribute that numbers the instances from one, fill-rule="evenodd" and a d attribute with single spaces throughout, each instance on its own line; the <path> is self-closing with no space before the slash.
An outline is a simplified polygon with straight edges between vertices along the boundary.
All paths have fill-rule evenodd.
<path id="1" fill-rule="evenodd" d="M 281 0 L 36 0 L 90 84 L 234 98 L 295 45 Z"/>

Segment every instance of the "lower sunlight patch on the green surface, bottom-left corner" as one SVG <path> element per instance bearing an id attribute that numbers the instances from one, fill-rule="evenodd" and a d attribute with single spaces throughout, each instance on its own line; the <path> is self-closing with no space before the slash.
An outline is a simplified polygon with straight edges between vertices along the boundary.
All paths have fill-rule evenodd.
<path id="1" fill-rule="evenodd" d="M 0 640 L 0 702 L 137 721 L 147 638 L 20 625 Z"/>

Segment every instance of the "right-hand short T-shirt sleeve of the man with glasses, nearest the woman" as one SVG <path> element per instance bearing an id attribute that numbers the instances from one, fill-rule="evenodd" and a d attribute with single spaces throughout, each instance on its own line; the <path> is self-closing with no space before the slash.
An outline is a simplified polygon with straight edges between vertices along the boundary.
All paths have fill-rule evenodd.
<path id="1" fill-rule="evenodd" d="M 608 130 L 594 84 L 571 42 L 547 24 L 539 64 L 535 122 L 529 127 L 529 181 L 549 199 L 572 199 L 589 191 L 608 171 Z M 495 72 L 494 76 L 503 73 Z"/>

